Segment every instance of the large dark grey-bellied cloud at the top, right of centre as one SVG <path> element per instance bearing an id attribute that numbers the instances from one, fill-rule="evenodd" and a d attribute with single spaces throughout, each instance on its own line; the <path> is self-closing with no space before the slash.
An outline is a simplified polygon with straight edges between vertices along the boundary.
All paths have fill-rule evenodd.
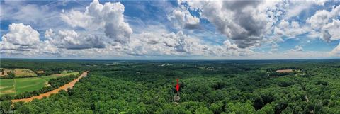
<path id="1" fill-rule="evenodd" d="M 259 8 L 262 1 L 188 1 L 201 18 L 213 23 L 220 33 L 235 41 L 238 47 L 256 45 L 266 35 L 272 23 L 266 10 Z"/>

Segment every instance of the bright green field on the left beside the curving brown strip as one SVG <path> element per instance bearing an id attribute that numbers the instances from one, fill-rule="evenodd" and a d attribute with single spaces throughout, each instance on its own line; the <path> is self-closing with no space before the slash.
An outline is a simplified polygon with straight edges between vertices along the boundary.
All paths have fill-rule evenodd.
<path id="1" fill-rule="evenodd" d="M 24 91 L 39 90 L 44 86 L 48 86 L 47 82 L 50 79 L 55 79 L 58 76 L 67 76 L 70 74 L 79 74 L 79 72 L 70 72 L 62 74 L 53 74 L 50 76 L 18 78 L 18 79 L 0 79 L 0 95 L 10 94 L 15 95 Z"/>

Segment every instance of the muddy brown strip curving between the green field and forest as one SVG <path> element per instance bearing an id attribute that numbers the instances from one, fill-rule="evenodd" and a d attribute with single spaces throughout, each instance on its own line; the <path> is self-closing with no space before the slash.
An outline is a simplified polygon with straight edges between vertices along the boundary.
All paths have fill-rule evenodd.
<path id="1" fill-rule="evenodd" d="M 42 93 L 39 96 L 33 96 L 33 97 L 30 97 L 30 98 L 22 98 L 22 99 L 13 99 L 12 102 L 13 103 L 20 102 L 20 101 L 30 102 L 30 101 L 33 101 L 33 99 L 35 99 L 35 98 L 36 99 L 42 99 L 44 97 L 51 96 L 52 94 L 59 93 L 59 91 L 62 90 L 62 89 L 67 91 L 68 88 L 72 89 L 74 84 L 76 84 L 76 82 L 79 81 L 79 79 L 83 78 L 84 76 L 87 76 L 87 72 L 83 72 L 83 74 L 81 74 L 77 79 L 74 79 L 73 81 L 69 82 L 68 84 L 65 84 L 64 86 L 61 86 L 57 89 L 54 89 L 52 91 L 48 91 L 47 93 Z"/>

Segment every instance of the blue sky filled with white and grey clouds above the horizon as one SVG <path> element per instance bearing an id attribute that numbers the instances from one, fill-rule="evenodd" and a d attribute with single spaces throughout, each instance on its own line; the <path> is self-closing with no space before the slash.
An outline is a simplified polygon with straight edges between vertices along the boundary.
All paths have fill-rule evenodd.
<path id="1" fill-rule="evenodd" d="M 339 59 L 340 1 L 0 1 L 0 57 Z"/>

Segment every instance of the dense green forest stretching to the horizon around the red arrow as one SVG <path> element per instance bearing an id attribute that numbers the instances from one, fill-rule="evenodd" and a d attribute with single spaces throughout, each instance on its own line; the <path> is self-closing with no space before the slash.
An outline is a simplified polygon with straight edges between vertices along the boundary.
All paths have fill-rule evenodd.
<path id="1" fill-rule="evenodd" d="M 89 70 L 73 89 L 49 98 L 13 105 L 3 100 L 1 113 L 340 113 L 339 59 L 1 59 L 1 67 L 47 74 Z M 176 79 L 179 103 L 174 103 Z"/>

